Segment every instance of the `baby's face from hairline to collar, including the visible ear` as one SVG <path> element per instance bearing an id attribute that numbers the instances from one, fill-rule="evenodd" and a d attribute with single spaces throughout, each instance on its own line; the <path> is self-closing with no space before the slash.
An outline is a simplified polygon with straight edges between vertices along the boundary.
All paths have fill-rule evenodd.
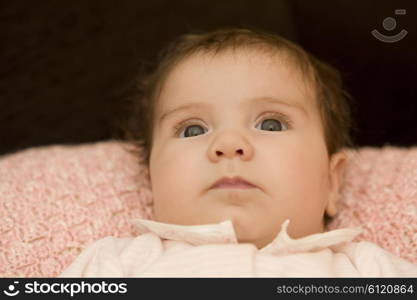
<path id="1" fill-rule="evenodd" d="M 314 92 L 278 55 L 194 55 L 158 101 L 149 165 L 157 221 L 230 219 L 239 242 L 261 248 L 286 219 L 298 238 L 336 212 L 344 154 L 329 160 Z M 212 187 L 235 176 L 255 187 Z"/>

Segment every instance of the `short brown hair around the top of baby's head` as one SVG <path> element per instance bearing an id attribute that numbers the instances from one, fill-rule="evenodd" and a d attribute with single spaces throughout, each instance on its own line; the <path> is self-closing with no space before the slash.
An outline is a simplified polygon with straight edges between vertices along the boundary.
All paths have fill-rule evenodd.
<path id="1" fill-rule="evenodd" d="M 134 151 L 140 151 L 139 156 L 143 158 L 141 163 L 149 166 L 155 106 L 170 71 L 193 54 L 216 55 L 224 50 L 242 48 L 284 54 L 316 90 L 329 156 L 343 147 L 354 147 L 350 137 L 350 97 L 344 91 L 341 76 L 336 69 L 275 34 L 231 28 L 180 36 L 159 54 L 158 64 L 153 71 L 135 78 L 126 95 L 128 118 L 122 120 L 118 128 L 121 129 L 123 139 L 135 146 Z"/>

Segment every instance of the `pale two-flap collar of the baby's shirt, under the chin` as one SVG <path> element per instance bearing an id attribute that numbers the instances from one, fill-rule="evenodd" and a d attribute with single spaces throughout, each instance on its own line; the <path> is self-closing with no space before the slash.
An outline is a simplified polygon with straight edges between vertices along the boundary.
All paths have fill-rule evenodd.
<path id="1" fill-rule="evenodd" d="M 287 233 L 289 222 L 290 220 L 286 220 L 282 223 L 281 230 L 276 238 L 260 249 L 260 252 L 279 255 L 315 251 L 343 242 L 349 242 L 362 232 L 360 227 L 344 228 L 292 239 Z M 133 219 L 131 224 L 140 233 L 152 232 L 162 239 L 183 241 L 195 246 L 238 243 L 230 220 L 216 224 L 176 225 L 145 219 Z"/>

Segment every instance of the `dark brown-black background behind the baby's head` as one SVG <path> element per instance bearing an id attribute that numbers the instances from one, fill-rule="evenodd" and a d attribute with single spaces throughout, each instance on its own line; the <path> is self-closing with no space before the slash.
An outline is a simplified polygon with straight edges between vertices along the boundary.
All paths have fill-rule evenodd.
<path id="1" fill-rule="evenodd" d="M 110 139 L 141 64 L 189 30 L 252 26 L 339 68 L 358 146 L 417 144 L 416 1 L 2 1 L 0 154 Z M 395 15 L 406 9 L 406 15 Z M 382 21 L 393 17 L 387 31 Z M 378 29 L 408 35 L 383 43 Z"/>

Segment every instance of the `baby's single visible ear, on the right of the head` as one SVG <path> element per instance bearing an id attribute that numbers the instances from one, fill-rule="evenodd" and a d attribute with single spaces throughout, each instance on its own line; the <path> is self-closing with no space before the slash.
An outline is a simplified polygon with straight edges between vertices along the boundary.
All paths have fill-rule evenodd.
<path id="1" fill-rule="evenodd" d="M 339 190 L 343 183 L 343 174 L 346 166 L 347 155 L 341 150 L 332 155 L 329 163 L 329 197 L 326 206 L 326 214 L 334 217 L 337 214 L 337 202 Z"/>

